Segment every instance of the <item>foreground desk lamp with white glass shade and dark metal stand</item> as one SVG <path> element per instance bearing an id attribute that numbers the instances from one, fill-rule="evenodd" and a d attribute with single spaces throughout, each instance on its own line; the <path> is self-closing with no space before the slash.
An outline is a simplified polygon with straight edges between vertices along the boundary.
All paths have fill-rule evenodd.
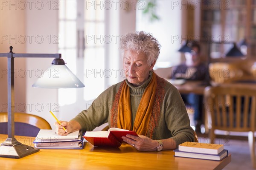
<path id="1" fill-rule="evenodd" d="M 61 54 L 17 54 L 12 52 L 12 46 L 10 46 L 9 53 L 0 53 L 0 57 L 7 57 L 7 95 L 8 95 L 8 138 L 0 146 L 0 157 L 7 158 L 22 158 L 32 153 L 39 151 L 38 148 L 21 144 L 14 137 L 14 58 L 26 57 L 26 58 L 55 58 L 52 62 L 52 69 L 56 72 L 55 76 L 48 76 L 44 74 L 41 78 L 35 82 L 33 87 L 40 88 L 82 88 L 83 83 L 67 68 Z M 45 73 L 45 72 L 44 72 Z"/>

